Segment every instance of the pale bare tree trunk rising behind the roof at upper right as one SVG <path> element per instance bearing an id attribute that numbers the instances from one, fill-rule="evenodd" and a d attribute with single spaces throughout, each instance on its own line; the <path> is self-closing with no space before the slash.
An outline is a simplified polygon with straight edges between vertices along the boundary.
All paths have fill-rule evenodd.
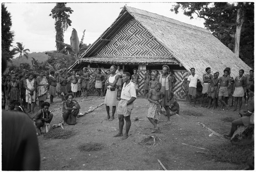
<path id="1" fill-rule="evenodd" d="M 244 22 L 243 10 L 239 8 L 237 12 L 236 34 L 234 35 L 234 54 L 237 57 L 239 57 L 240 36 L 241 36 L 241 29 L 243 26 L 243 22 Z"/>

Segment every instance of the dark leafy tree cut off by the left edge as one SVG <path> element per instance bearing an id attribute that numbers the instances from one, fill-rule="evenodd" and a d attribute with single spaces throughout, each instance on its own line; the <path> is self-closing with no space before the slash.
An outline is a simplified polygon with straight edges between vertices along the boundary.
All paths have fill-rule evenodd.
<path id="1" fill-rule="evenodd" d="M 2 4 L 2 58 L 10 61 L 14 53 L 10 51 L 14 32 L 11 31 L 12 19 L 11 14 L 7 11 L 5 4 Z"/>

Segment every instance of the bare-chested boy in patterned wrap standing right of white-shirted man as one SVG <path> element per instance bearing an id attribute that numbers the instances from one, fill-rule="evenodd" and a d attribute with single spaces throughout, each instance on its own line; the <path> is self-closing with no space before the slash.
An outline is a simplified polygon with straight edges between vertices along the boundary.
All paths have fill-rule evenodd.
<path id="1" fill-rule="evenodd" d="M 159 130 L 157 127 L 157 123 L 159 120 L 159 116 L 161 113 L 161 105 L 160 102 L 162 102 L 164 93 L 161 90 L 162 84 L 157 83 L 155 89 L 151 89 L 148 92 L 148 98 L 147 100 L 150 102 L 149 108 L 148 108 L 148 113 L 147 113 L 147 118 L 150 120 L 151 124 L 153 124 L 154 129 L 151 131 L 151 133 L 155 133 L 156 131 Z"/>

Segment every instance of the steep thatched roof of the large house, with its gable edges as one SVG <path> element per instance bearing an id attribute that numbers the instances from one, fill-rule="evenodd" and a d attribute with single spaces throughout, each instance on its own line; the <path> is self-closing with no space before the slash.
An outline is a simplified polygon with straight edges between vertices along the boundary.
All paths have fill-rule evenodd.
<path id="1" fill-rule="evenodd" d="M 226 67 L 231 68 L 231 76 L 237 76 L 238 70 L 244 69 L 249 73 L 251 69 L 240 58 L 229 50 L 220 40 L 214 37 L 208 30 L 192 26 L 168 17 L 150 13 L 144 10 L 125 6 L 120 12 L 118 18 L 89 48 L 84 52 L 71 68 L 77 68 L 80 62 L 97 63 L 124 63 L 128 61 L 142 64 L 146 60 L 141 57 L 95 57 L 97 52 L 119 31 L 119 29 L 130 19 L 136 19 L 144 28 L 150 32 L 168 51 L 174 59 L 151 59 L 146 63 L 156 61 L 163 63 L 181 63 L 188 71 L 191 67 L 196 68 L 196 73 L 203 75 L 205 68 L 210 67 L 212 72 L 219 71 L 221 74 Z M 120 64 L 120 63 L 119 63 Z M 136 63 L 135 63 L 136 64 Z"/>

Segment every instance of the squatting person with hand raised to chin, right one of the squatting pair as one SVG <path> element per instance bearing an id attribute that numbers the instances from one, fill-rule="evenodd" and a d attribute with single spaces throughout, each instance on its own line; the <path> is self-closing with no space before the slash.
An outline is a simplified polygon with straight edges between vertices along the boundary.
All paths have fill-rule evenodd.
<path id="1" fill-rule="evenodd" d="M 79 113 L 80 105 L 77 103 L 76 100 L 73 100 L 74 95 L 69 93 L 65 96 L 66 100 L 63 103 L 62 108 L 62 117 L 63 117 L 63 125 L 75 125 L 76 124 L 76 116 Z"/>

